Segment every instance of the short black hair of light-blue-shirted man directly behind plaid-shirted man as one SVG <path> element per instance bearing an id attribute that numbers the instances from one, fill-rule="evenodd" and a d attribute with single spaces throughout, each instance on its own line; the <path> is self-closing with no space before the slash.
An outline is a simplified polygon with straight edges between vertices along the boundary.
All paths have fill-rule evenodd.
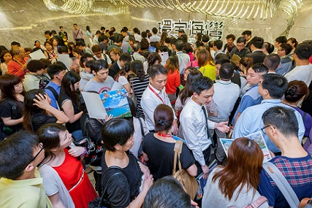
<path id="1" fill-rule="evenodd" d="M 270 97 L 281 99 L 287 89 L 288 82 L 282 75 L 267 74 L 262 75 L 261 85 L 263 89 L 267 89 Z"/>

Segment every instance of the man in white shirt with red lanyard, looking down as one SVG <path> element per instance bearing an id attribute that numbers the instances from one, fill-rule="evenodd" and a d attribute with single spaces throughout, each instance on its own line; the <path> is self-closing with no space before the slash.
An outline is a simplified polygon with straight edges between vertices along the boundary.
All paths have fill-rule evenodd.
<path id="1" fill-rule="evenodd" d="M 159 104 L 166 104 L 171 106 L 169 97 L 165 91 L 165 85 L 167 83 L 168 72 L 162 65 L 153 65 L 150 67 L 150 84 L 143 92 L 141 99 L 141 106 L 145 115 L 145 122 L 149 131 L 154 131 L 154 111 Z M 174 109 L 172 109 L 174 112 Z M 172 133 L 177 134 L 177 117 L 174 115 L 174 122 L 172 124 Z"/>

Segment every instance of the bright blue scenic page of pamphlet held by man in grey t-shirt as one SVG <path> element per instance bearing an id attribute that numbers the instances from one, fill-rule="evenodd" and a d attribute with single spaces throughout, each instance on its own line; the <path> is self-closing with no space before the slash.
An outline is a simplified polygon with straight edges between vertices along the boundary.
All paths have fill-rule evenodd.
<path id="1" fill-rule="evenodd" d="M 104 92 L 100 94 L 100 98 L 108 116 L 113 115 L 113 118 L 132 116 L 126 89 Z"/>

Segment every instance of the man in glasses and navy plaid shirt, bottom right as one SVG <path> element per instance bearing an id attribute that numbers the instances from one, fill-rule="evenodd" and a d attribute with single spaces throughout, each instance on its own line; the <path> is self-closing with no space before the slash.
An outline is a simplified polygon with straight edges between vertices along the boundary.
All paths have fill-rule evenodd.
<path id="1" fill-rule="evenodd" d="M 264 169 L 262 169 L 260 174 L 258 191 L 260 195 L 267 197 L 269 207 L 298 207 L 299 204 L 291 205 L 289 200 L 297 197 L 301 201 L 303 198 L 312 196 L 312 158 L 311 154 L 302 148 L 298 139 L 299 124 L 294 110 L 282 106 L 274 106 L 264 112 L 262 120 L 264 123 L 262 131 L 282 151 L 281 156 L 276 156 L 269 161 L 278 170 L 269 168 L 267 171 L 274 175 L 277 175 L 280 171 L 282 177 L 286 178 L 286 181 L 282 182 L 283 189 L 286 189 L 288 182 L 291 186 L 289 188 L 294 190 L 294 195 L 296 196 L 284 197 L 283 189 L 280 189 L 276 180 L 273 180 L 274 175 L 272 179 Z M 291 192 L 288 190 L 287 193 L 290 194 Z"/>

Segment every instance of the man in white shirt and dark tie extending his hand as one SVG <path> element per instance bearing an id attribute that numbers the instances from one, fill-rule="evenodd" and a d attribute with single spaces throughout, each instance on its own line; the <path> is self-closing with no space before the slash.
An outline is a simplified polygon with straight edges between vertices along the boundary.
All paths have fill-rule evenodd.
<path id="1" fill-rule="evenodd" d="M 191 83 L 193 96 L 186 102 L 180 114 L 180 122 L 186 145 L 193 152 L 196 160 L 197 175 L 204 173 L 204 179 L 208 177 L 208 161 L 211 154 L 213 141 L 208 128 L 228 132 L 228 122 L 215 123 L 207 119 L 206 104 L 213 97 L 213 82 L 208 77 L 199 77 Z"/>

